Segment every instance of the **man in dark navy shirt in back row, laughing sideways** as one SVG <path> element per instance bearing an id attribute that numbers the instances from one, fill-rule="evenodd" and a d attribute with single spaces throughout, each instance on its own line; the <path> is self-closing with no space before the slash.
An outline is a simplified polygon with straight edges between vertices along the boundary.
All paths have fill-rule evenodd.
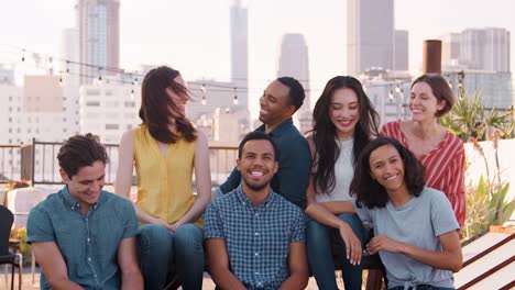
<path id="1" fill-rule="evenodd" d="M 272 81 L 260 99 L 260 121 L 255 131 L 265 132 L 278 147 L 280 168 L 272 179 L 272 189 L 300 209 L 306 207 L 306 189 L 311 170 L 311 154 L 306 138 L 298 132 L 292 115 L 303 105 L 305 92 L 294 78 L 281 77 Z M 227 193 L 241 183 L 234 168 L 215 194 Z"/>

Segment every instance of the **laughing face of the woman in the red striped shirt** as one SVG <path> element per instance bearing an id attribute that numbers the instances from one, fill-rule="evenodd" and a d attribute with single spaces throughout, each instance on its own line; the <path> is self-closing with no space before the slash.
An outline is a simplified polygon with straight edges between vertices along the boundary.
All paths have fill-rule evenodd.
<path id="1" fill-rule="evenodd" d="M 438 101 L 427 82 L 419 81 L 413 85 L 408 101 L 413 121 L 434 120 L 445 104 L 445 100 Z"/>

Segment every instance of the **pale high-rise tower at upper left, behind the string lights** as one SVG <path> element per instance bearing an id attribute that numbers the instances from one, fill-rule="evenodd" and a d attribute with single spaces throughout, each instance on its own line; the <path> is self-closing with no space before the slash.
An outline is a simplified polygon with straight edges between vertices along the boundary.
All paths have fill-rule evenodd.
<path id="1" fill-rule="evenodd" d="M 77 0 L 80 63 L 118 69 L 120 66 L 120 1 Z M 80 82 L 89 83 L 99 75 L 116 74 L 80 66 Z"/>

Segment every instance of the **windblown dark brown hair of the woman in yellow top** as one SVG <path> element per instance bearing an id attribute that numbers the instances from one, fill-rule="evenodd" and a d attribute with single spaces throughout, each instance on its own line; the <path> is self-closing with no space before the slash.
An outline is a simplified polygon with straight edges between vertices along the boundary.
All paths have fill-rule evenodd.
<path id="1" fill-rule="evenodd" d="M 146 74 L 141 87 L 140 118 L 149 127 L 151 136 L 166 144 L 176 143 L 180 137 L 188 142 L 197 138 L 195 127 L 185 115 L 175 116 L 178 134 L 168 129 L 171 112 L 179 112 L 179 109 L 166 93 L 166 89 L 169 88 L 175 93 L 190 99 L 188 90 L 175 81 L 179 75 L 179 71 L 173 68 L 157 67 Z"/>

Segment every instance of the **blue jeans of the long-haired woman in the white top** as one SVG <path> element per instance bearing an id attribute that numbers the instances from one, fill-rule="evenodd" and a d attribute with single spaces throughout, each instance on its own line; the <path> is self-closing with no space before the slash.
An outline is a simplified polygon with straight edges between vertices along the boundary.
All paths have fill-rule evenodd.
<path id="1" fill-rule="evenodd" d="M 363 246 L 368 239 L 368 234 L 360 219 L 355 214 L 343 213 L 338 217 L 347 222 L 358 238 L 361 241 Z M 340 232 L 337 228 L 324 225 L 313 219 L 307 222 L 306 225 L 306 246 L 308 254 L 309 268 L 313 276 L 317 280 L 319 289 L 333 290 L 338 289 L 335 276 L 335 261 L 331 253 L 331 236 L 336 236 L 338 246 L 340 247 L 342 276 L 346 290 L 349 289 L 361 289 L 361 271 L 362 265 L 353 266 L 347 259 L 346 245 L 340 236 Z"/>

